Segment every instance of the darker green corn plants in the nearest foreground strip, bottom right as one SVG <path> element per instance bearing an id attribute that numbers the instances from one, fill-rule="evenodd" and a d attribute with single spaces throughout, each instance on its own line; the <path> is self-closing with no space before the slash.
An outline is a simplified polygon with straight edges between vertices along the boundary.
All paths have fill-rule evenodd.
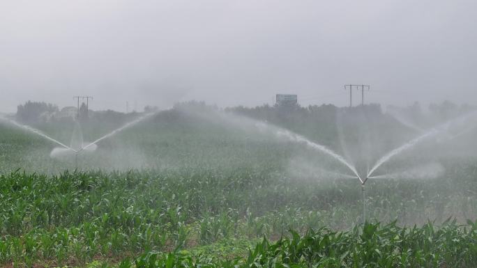
<path id="1" fill-rule="evenodd" d="M 449 223 L 439 229 L 432 223 L 422 228 L 399 228 L 366 223 L 350 232 L 326 228 L 308 230 L 300 236 L 267 239 L 245 258 L 223 260 L 185 253 L 146 253 L 119 267 L 475 267 L 477 223 L 467 228 Z"/>

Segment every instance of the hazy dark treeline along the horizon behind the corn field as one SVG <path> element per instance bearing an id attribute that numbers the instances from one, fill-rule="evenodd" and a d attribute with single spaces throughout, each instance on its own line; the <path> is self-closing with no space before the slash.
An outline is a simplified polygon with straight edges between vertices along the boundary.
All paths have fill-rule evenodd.
<path id="1" fill-rule="evenodd" d="M 65 111 L 69 108 L 70 111 Z M 110 121 L 120 123 L 128 118 L 134 118 L 137 112 L 121 113 L 118 111 L 86 111 L 86 107 L 82 105 L 77 113 L 74 107 L 66 107 L 59 109 L 56 104 L 45 102 L 31 102 L 20 104 L 17 107 L 16 118 L 24 123 L 42 123 L 46 120 L 75 120 L 78 118 L 86 118 L 93 121 Z M 219 110 L 215 105 L 208 105 L 205 102 L 181 102 L 174 105 L 173 110 L 181 109 L 212 109 Z M 74 111 L 71 111 L 74 109 Z M 282 127 L 294 129 L 308 125 L 330 125 L 336 123 L 338 114 L 356 115 L 365 114 L 368 118 L 377 119 L 379 117 L 388 116 L 406 118 L 413 121 L 416 125 L 430 125 L 437 122 L 443 122 L 450 118 L 455 118 L 462 113 L 468 113 L 475 110 L 468 104 L 457 105 L 453 102 L 444 101 L 440 104 L 430 104 L 427 109 L 423 109 L 418 102 L 407 107 L 388 106 L 386 112 L 383 111 L 379 104 L 367 104 L 364 107 L 336 107 L 333 104 L 310 105 L 302 107 L 299 104 L 264 104 L 257 107 L 227 107 L 226 112 L 233 112 L 241 116 L 255 118 L 257 120 L 266 121 Z M 146 107 L 145 113 L 158 111 L 157 107 Z M 69 113 L 68 113 L 69 112 Z M 59 116 L 52 116 L 57 114 Z M 315 127 L 313 127 L 315 128 Z"/>

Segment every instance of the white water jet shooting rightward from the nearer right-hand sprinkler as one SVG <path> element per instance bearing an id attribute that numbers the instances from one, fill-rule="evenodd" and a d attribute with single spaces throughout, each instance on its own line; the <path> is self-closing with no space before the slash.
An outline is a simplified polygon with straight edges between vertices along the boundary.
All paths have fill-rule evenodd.
<path id="1" fill-rule="evenodd" d="M 457 118 L 457 119 L 454 119 L 454 120 L 449 120 L 448 122 L 446 122 L 442 125 L 439 125 L 438 127 L 434 127 L 429 132 L 426 132 L 425 134 L 422 134 L 421 136 L 418 136 L 417 138 L 412 139 L 411 141 L 408 141 L 407 143 L 404 143 L 400 147 L 395 148 L 394 150 L 391 150 L 391 152 L 388 152 L 386 155 L 384 155 L 384 157 L 381 157 L 376 162 L 376 164 L 374 164 L 374 166 L 371 168 L 371 171 L 368 173 L 368 175 L 366 177 L 370 178 L 372 173 L 374 173 L 374 171 L 376 171 L 377 168 L 379 168 L 379 166 L 386 163 L 386 161 L 389 161 L 389 159 L 395 157 L 395 155 L 399 155 L 401 152 L 404 152 L 405 150 L 407 150 L 411 147 L 414 147 L 414 145 L 416 145 L 417 143 L 420 143 L 421 141 L 423 141 L 425 139 L 428 139 L 428 138 L 430 138 L 434 135 L 439 134 L 440 132 L 447 129 L 450 126 L 450 124 L 452 124 L 452 123 L 455 123 L 455 122 L 460 121 L 460 120 L 462 120 L 462 121 L 467 120 L 467 118 L 474 115 L 475 113 L 477 113 L 477 111 L 471 112 L 467 115 L 461 116 L 460 118 Z"/>

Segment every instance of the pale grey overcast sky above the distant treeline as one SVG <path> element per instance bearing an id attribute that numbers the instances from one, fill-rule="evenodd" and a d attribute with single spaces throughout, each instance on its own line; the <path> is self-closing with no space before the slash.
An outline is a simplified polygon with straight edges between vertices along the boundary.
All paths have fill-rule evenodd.
<path id="1" fill-rule="evenodd" d="M 477 104 L 475 0 L 0 1 L 0 111 L 27 100 L 91 109 Z M 354 104 L 361 101 L 355 90 Z"/>

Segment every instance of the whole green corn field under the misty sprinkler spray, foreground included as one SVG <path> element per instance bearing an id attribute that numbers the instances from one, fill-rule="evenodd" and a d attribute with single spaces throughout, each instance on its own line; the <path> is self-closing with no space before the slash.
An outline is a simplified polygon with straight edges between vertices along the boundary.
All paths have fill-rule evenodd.
<path id="1" fill-rule="evenodd" d="M 312 166 L 296 172 L 305 160 L 329 159 L 294 143 L 166 119 L 105 140 L 78 166 L 50 159 L 46 141 L 2 126 L 0 264 L 477 265 L 474 158 L 441 159 L 445 172 L 432 180 L 370 180 L 363 224 L 357 180 L 324 179 Z"/>

